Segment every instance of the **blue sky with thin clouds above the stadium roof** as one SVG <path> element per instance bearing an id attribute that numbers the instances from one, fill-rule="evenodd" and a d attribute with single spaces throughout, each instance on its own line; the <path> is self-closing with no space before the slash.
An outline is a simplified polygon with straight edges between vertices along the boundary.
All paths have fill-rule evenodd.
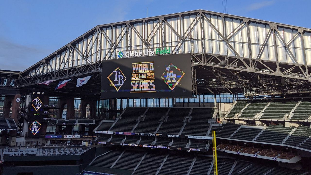
<path id="1" fill-rule="evenodd" d="M 309 0 L 227 0 L 228 14 L 311 28 Z M 222 0 L 0 0 L 0 69 L 24 71 L 96 25 L 203 9 Z M 307 19 L 307 20 L 306 20 Z"/>

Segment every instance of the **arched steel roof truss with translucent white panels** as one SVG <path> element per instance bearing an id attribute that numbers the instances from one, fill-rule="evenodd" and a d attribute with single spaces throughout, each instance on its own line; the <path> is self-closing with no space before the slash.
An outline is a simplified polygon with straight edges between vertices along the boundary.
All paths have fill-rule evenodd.
<path id="1" fill-rule="evenodd" d="M 195 10 L 98 25 L 21 72 L 17 86 L 101 72 L 101 61 L 116 59 L 118 51 L 159 47 L 191 52 L 193 71 L 212 76 L 209 83 L 218 81 L 230 93 L 239 92 L 230 90 L 230 83 L 311 80 L 311 29 Z"/>

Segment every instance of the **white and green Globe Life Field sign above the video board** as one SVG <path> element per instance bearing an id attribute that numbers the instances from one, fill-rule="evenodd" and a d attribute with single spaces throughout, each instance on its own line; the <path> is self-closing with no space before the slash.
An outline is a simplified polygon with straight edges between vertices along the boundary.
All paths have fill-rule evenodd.
<path id="1" fill-rule="evenodd" d="M 164 54 L 170 54 L 170 53 L 171 53 L 171 47 L 165 47 L 165 48 L 156 48 L 155 50 L 143 49 L 142 51 L 126 51 L 125 53 L 123 51 L 119 51 L 117 56 L 118 58 L 123 58 L 124 56 L 126 58 L 129 58 L 129 57 L 141 57 L 141 56 L 152 56 L 152 55 L 164 55 Z"/>

